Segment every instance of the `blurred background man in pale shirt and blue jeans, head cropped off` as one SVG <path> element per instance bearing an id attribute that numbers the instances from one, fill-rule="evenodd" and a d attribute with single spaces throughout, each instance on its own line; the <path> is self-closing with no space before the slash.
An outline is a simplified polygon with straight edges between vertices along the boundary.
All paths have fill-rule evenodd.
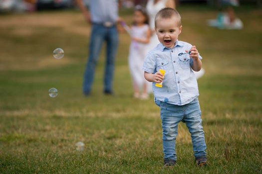
<path id="1" fill-rule="evenodd" d="M 92 24 L 89 41 L 89 57 L 83 80 L 83 93 L 89 95 L 94 80 L 95 66 L 103 42 L 106 42 L 106 67 L 104 71 L 104 93 L 113 94 L 112 81 L 114 60 L 118 46 L 116 24 L 118 16 L 118 0 L 90 0 L 89 11 L 82 0 L 76 0 L 87 22 Z"/>

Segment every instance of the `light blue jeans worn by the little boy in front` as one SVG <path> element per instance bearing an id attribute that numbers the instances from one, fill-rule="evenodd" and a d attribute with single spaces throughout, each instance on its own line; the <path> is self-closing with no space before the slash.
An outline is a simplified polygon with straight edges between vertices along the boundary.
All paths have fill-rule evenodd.
<path id="1" fill-rule="evenodd" d="M 192 102 L 179 106 L 166 102 L 160 103 L 162 129 L 163 129 L 163 152 L 165 159 L 177 160 L 176 136 L 178 123 L 186 123 L 191 133 L 193 151 L 196 159 L 206 157 L 206 143 L 202 127 L 201 110 L 196 97 Z"/>

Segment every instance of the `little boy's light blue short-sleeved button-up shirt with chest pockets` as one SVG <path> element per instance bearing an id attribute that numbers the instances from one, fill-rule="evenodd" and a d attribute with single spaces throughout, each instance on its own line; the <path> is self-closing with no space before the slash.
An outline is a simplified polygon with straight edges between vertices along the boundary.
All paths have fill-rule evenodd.
<path id="1" fill-rule="evenodd" d="M 199 95 L 197 79 L 191 68 L 193 59 L 185 52 L 191 47 L 191 44 L 177 40 L 172 49 L 160 43 L 147 54 L 143 65 L 145 72 L 155 74 L 160 69 L 165 70 L 163 87 L 152 83 L 157 105 L 160 101 L 184 105 Z"/>

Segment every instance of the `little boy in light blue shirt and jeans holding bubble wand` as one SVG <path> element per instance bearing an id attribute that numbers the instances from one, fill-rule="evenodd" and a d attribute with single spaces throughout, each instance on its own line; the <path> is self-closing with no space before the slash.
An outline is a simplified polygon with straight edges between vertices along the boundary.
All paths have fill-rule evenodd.
<path id="1" fill-rule="evenodd" d="M 194 71 L 200 71 L 201 59 L 196 46 L 178 41 L 181 17 L 173 8 L 161 9 L 155 17 L 155 30 L 160 41 L 144 61 L 144 76 L 153 82 L 155 103 L 160 106 L 163 128 L 164 166 L 174 166 L 178 123 L 186 123 L 191 133 L 198 166 L 207 165 L 206 143 L 198 101 L 198 84 Z M 159 70 L 165 70 L 164 76 Z M 156 83 L 163 82 L 162 87 Z"/>

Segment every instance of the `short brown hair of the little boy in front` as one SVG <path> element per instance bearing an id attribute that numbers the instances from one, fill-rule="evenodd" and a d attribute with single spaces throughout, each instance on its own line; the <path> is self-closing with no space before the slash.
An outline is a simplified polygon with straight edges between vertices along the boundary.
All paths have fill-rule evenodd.
<path id="1" fill-rule="evenodd" d="M 178 26 L 181 26 L 182 25 L 182 23 L 181 23 L 181 16 L 180 16 L 179 12 L 176 9 L 174 9 L 174 8 L 165 7 L 165 8 L 162 8 L 160 11 L 158 11 L 157 14 L 156 14 L 155 27 L 157 27 L 156 24 L 157 24 L 157 18 L 158 17 L 167 19 L 167 18 L 171 18 L 172 16 L 176 16 L 177 24 L 178 24 Z"/>

